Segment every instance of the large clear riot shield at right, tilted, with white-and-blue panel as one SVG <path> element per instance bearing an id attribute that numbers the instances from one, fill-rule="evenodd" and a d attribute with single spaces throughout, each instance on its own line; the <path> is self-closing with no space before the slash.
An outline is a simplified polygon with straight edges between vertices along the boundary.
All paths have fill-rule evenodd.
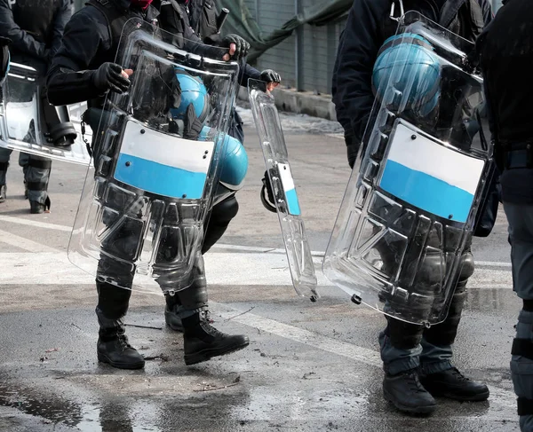
<path id="1" fill-rule="evenodd" d="M 353 302 L 414 324 L 446 318 L 488 181 L 472 51 L 416 12 L 402 17 L 378 54 L 360 169 L 322 265 Z"/>

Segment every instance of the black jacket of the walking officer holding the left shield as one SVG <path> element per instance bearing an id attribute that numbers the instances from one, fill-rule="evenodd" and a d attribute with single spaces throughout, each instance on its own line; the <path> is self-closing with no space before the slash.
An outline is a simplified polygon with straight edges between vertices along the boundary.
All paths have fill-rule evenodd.
<path id="1" fill-rule="evenodd" d="M 159 12 L 131 6 L 129 0 L 107 0 L 123 17 L 155 22 Z M 104 2 L 103 2 L 104 3 Z M 76 12 L 65 27 L 59 51 L 48 73 L 48 99 L 52 105 L 69 105 L 88 100 L 90 106 L 101 106 L 103 96 L 93 83 L 93 75 L 103 63 L 114 62 L 120 31 L 110 26 L 106 15 L 93 5 Z M 122 29 L 121 23 L 115 26 Z"/>

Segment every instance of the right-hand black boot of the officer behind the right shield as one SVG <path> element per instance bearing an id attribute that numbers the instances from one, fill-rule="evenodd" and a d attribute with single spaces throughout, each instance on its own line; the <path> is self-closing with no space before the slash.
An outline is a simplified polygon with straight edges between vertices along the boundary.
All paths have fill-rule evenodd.
<path id="1" fill-rule="evenodd" d="M 455 367 L 421 375 L 420 381 L 434 397 L 448 397 L 462 402 L 480 402 L 489 398 L 489 388 L 485 384 L 466 378 Z"/>

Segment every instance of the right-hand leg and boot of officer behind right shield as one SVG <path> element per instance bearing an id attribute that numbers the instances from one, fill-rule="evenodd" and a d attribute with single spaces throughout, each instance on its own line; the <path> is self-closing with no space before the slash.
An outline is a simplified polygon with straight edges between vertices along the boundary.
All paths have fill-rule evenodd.
<path id="1" fill-rule="evenodd" d="M 473 268 L 473 255 L 468 245 L 462 256 L 461 273 L 449 304 L 448 317 L 424 332 L 420 356 L 421 381 L 434 397 L 449 397 L 459 401 L 483 401 L 489 397 L 489 389 L 485 384 L 469 380 L 451 364 L 451 346 L 457 336 L 465 305 L 466 283 L 473 274 Z"/>

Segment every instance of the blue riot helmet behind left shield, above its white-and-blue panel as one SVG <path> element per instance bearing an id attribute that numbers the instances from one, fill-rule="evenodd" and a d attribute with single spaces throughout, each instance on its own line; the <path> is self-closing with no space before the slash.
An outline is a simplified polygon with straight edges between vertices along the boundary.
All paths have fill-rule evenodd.
<path id="1" fill-rule="evenodd" d="M 198 76 L 187 74 L 184 69 L 176 68 L 176 78 L 179 82 L 179 106 L 171 108 L 174 119 L 183 120 L 189 105 L 195 107 L 196 117 L 203 122 L 209 114 L 209 95 L 203 81 Z"/>

